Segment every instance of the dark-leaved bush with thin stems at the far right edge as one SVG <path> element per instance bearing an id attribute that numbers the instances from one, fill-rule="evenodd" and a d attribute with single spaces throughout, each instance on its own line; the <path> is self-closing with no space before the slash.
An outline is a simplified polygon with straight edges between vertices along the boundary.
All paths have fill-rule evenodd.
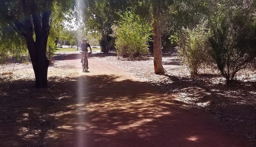
<path id="1" fill-rule="evenodd" d="M 227 84 L 256 57 L 255 16 L 241 6 L 218 4 L 211 21 L 211 52 Z"/>

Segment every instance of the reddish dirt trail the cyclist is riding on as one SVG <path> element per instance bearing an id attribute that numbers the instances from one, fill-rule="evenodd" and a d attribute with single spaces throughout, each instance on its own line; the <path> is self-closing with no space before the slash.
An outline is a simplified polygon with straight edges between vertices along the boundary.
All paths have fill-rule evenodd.
<path id="1" fill-rule="evenodd" d="M 51 146 L 249 146 L 211 115 L 184 107 L 113 65 L 90 58 L 89 72 L 82 72 L 79 58 L 70 54 L 65 59 L 66 73 L 74 81 L 67 93 L 73 94 L 66 99 L 65 111 L 54 115 L 58 126 L 51 137 L 57 139 Z"/>

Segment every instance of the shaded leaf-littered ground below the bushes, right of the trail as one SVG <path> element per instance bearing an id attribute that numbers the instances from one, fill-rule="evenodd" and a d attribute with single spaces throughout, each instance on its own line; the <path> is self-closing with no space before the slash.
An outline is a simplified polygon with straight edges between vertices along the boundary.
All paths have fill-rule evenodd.
<path id="1" fill-rule="evenodd" d="M 163 91 L 178 95 L 187 105 L 213 113 L 235 134 L 247 136 L 256 144 L 256 81 L 236 81 L 228 86 L 219 82 L 213 84 L 212 80 L 220 75 L 166 76 L 169 82 L 159 84 Z"/>

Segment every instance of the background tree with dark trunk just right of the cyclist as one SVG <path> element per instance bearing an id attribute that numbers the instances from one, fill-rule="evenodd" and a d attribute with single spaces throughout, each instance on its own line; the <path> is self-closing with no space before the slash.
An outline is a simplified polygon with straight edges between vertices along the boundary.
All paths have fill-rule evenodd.
<path id="1" fill-rule="evenodd" d="M 111 48 L 111 26 L 117 15 L 112 0 L 85 0 L 84 18 L 86 29 L 100 36 L 100 46 L 103 53 Z"/>

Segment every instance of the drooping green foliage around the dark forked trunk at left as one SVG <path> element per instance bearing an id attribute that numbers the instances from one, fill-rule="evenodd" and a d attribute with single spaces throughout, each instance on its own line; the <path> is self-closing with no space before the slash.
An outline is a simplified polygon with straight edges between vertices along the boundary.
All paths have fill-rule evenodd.
<path id="1" fill-rule="evenodd" d="M 35 3 L 38 3 L 37 6 L 40 15 L 45 10 L 52 10 L 52 15 L 49 20 L 51 29 L 47 40 L 46 52 L 47 58 L 51 63 L 52 55 L 56 50 L 56 37 L 59 36 L 60 30 L 63 28 L 62 20 L 66 18 L 65 15 L 70 13 L 73 2 L 64 2 L 63 0 L 35 0 Z M 24 12 L 20 2 L 16 0 L 3 0 L 0 2 L 0 8 L 0 62 L 1 64 L 4 64 L 5 60 L 12 58 L 12 56 L 15 56 L 19 60 L 21 56 L 28 55 L 28 49 L 26 40 L 22 36 L 25 35 L 24 32 L 20 32 L 18 27 L 12 24 L 12 22 L 16 22 L 16 24 L 23 26 L 22 23 L 25 23 L 23 18 Z M 34 40 L 36 39 L 34 30 L 33 38 Z"/>

